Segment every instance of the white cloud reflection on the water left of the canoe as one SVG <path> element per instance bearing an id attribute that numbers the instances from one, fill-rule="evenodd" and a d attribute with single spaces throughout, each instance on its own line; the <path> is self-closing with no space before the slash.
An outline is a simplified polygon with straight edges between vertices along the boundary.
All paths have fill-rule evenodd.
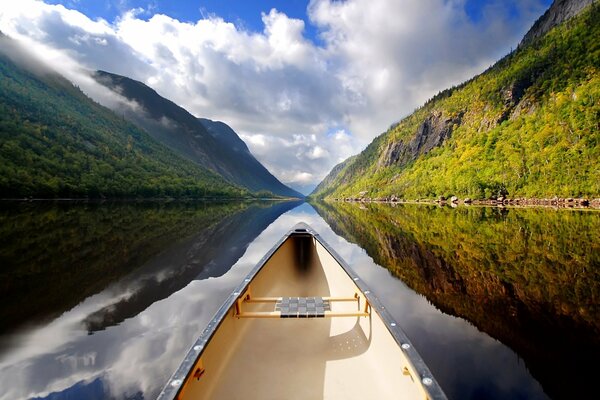
<path id="1" fill-rule="evenodd" d="M 140 390 L 147 398 L 156 397 L 199 332 L 266 251 L 299 220 L 317 219 L 314 214 L 284 214 L 225 275 L 193 281 L 105 331 L 87 335 L 81 321 L 130 296 L 135 288 L 126 286 L 127 292 L 119 293 L 115 290 L 120 285 L 115 284 L 50 324 L 21 335 L 14 350 L 0 358 L 0 387 L 9 388 L 0 399 L 45 396 L 98 377 L 117 398 Z"/>

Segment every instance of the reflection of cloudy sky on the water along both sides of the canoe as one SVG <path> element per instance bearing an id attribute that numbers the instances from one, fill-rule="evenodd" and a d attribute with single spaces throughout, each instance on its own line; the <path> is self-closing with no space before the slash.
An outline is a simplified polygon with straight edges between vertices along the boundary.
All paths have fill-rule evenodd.
<path id="1" fill-rule="evenodd" d="M 128 295 L 108 289 L 23 335 L 13 352 L 0 356 L 0 399 L 46 396 L 97 378 L 108 388 L 107 397 L 131 397 L 141 391 L 144 398 L 155 398 L 231 291 L 300 221 L 319 232 L 377 293 L 419 352 L 436 360 L 442 373 L 455 371 L 455 365 L 465 366 L 467 372 L 446 377 L 446 381 L 469 379 L 494 382 L 503 388 L 519 387 L 523 393 L 528 390 L 526 368 L 510 349 L 468 322 L 436 310 L 425 297 L 376 265 L 365 250 L 336 235 L 311 206 L 304 204 L 265 229 L 225 275 L 192 281 L 120 325 L 93 335 L 80 329 L 79 323 L 87 315 L 114 301 L 114 296 Z M 436 357 L 435 353 L 445 356 Z M 490 362 L 496 367 L 486 367 Z M 473 384 L 465 387 L 472 388 Z M 539 388 L 530 390 L 535 394 Z"/>

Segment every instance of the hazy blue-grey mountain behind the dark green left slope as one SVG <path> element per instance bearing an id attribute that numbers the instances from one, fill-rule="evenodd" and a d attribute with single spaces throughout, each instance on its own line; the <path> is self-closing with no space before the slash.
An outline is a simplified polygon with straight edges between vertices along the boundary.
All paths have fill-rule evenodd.
<path id="1" fill-rule="evenodd" d="M 253 192 L 304 197 L 279 182 L 225 123 L 196 118 L 133 79 L 105 71 L 97 71 L 94 78 L 134 104 L 132 107 L 119 104 L 115 111 L 187 159 Z"/>

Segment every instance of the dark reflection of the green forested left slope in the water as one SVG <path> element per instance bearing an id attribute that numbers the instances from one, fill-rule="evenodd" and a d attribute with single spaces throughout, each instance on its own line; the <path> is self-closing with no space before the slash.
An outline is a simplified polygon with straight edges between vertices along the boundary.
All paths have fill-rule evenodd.
<path id="1" fill-rule="evenodd" d="M 251 204 L 2 204 L 0 332 L 53 319 Z"/>

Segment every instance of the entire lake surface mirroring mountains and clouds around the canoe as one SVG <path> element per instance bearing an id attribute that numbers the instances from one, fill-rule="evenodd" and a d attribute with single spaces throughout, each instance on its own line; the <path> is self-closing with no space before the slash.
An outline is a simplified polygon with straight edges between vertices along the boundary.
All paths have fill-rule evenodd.
<path id="1" fill-rule="evenodd" d="M 564 295 L 570 291 L 559 287 L 564 281 L 551 283 L 563 279 L 562 269 L 571 268 L 553 264 L 555 259 L 561 257 L 561 251 L 566 251 L 571 259 L 578 260 L 579 266 L 587 265 L 588 271 L 593 272 L 595 268 L 597 274 L 598 243 L 592 240 L 590 245 L 588 240 L 594 228 L 598 231 L 597 219 L 569 214 L 555 221 L 548 212 L 532 216 L 512 210 L 498 214 L 492 210 L 466 212 L 460 208 L 438 210 L 420 207 L 418 210 L 404 208 L 401 211 L 390 207 L 359 210 L 346 206 L 317 205 L 323 219 L 308 204 L 290 210 L 295 205 L 143 205 L 137 211 L 130 210 L 129 214 L 117 209 L 103 210 L 101 208 L 104 206 L 98 206 L 99 209 L 95 211 L 97 216 L 88 215 L 92 211 L 86 211 L 83 212 L 83 215 L 87 215 L 85 218 L 73 217 L 70 224 L 67 223 L 70 215 L 82 213 L 77 210 L 78 207 L 90 206 L 75 206 L 72 209 L 72 206 L 65 205 L 59 206 L 63 209 L 58 211 L 44 207 L 39 209 L 41 211 L 26 210 L 38 212 L 43 221 L 19 217 L 14 210 L 1 214 L 4 218 L 3 229 L 5 221 L 13 221 L 12 228 L 6 228 L 3 232 L 13 232 L 13 235 L 27 232 L 19 227 L 30 225 L 45 227 L 42 231 L 47 233 L 40 234 L 40 237 L 51 238 L 52 224 L 63 239 L 73 238 L 77 232 L 87 237 L 85 232 L 88 229 L 95 232 L 97 237 L 107 239 L 111 235 L 120 235 L 119 240 L 111 242 L 110 246 L 99 245 L 107 254 L 98 250 L 90 255 L 96 250 L 92 248 L 84 252 L 83 247 L 72 245 L 69 251 L 87 254 L 87 258 L 83 259 L 92 265 L 103 262 L 97 259 L 118 262 L 119 257 L 112 253 L 142 253 L 142 256 L 137 258 L 137 263 L 121 262 L 120 267 L 114 269 L 115 272 L 107 273 L 115 274 L 112 279 L 105 279 L 100 272 L 91 275 L 85 271 L 70 272 L 69 265 L 63 267 L 62 263 L 76 257 L 63 254 L 66 251 L 53 253 L 58 261 L 46 258 L 46 262 L 56 266 L 56 273 L 60 274 L 52 281 L 52 285 L 56 282 L 57 287 L 51 287 L 48 291 L 56 292 L 56 297 L 64 297 L 64 305 L 63 308 L 52 308 L 54 311 L 50 317 L 45 314 L 46 318 L 42 321 L 35 319 L 37 322 L 34 326 L 25 326 L 17 332 L 0 336 L 5 343 L 10 343 L 8 348 L 0 351 L 0 399 L 155 398 L 191 343 L 233 288 L 265 252 L 300 221 L 313 226 L 352 265 L 361 279 L 374 289 L 393 317 L 400 322 L 451 399 L 547 398 L 544 390 L 550 393 L 551 387 L 539 371 L 531 367 L 533 364 L 526 354 L 527 349 L 534 348 L 549 351 L 548 358 L 555 356 L 556 351 L 548 349 L 545 343 L 557 340 L 557 336 L 552 336 L 552 332 L 546 332 L 550 335 L 548 338 L 540 338 L 537 333 L 529 335 L 519 325 L 522 323 L 519 321 L 537 323 L 535 319 L 532 322 L 522 319 L 523 312 L 546 310 L 540 317 L 549 319 L 550 322 L 545 326 L 558 329 L 556 321 L 551 322 L 556 316 L 555 308 L 540 302 L 545 293 L 551 293 L 553 298 L 558 299 L 576 299 L 562 301 L 559 307 L 562 310 L 560 315 L 565 316 L 566 321 L 571 321 L 568 322 L 570 325 L 565 326 L 581 326 L 579 322 L 583 321 L 584 325 L 587 323 L 588 327 L 593 327 L 598 320 L 592 318 L 594 313 L 597 316 L 597 309 L 594 308 L 598 304 L 595 286 L 598 283 L 597 275 L 589 275 L 588 272 L 585 279 L 595 283 L 588 283 L 587 288 L 582 282 L 571 285 L 574 292 L 581 293 L 579 297 Z M 48 206 L 50 209 L 53 207 Z M 52 217 L 52 213 L 60 218 Z M 25 220 L 15 223 L 19 218 Z M 113 218 L 118 223 L 111 223 Z M 86 227 L 86 222 L 90 220 L 99 224 L 99 228 Z M 57 225 L 57 221 L 61 225 Z M 536 269 L 535 263 L 526 259 L 521 259 L 525 265 L 523 268 L 501 267 L 504 260 L 510 260 L 506 252 L 499 250 L 503 246 L 513 247 L 515 252 L 524 251 L 515 247 L 518 242 L 513 237 L 515 230 L 518 231 L 515 221 L 519 221 L 520 226 L 529 232 L 526 236 L 529 237 L 527 248 L 531 257 L 547 256 L 545 264 L 542 263 L 547 266 L 545 269 Z M 543 251 L 534 249 L 541 237 L 538 235 L 543 236 L 556 229 L 569 235 L 569 226 L 580 232 L 574 238 L 581 241 L 583 250 L 569 248 L 560 238 L 542 241 L 546 246 Z M 3 235 L 3 238 L 8 236 L 6 233 Z M 29 240 L 27 235 L 33 233 L 23 235 L 25 237 L 21 239 L 10 239 L 14 242 L 10 242 L 13 243 L 11 246 L 20 240 Z M 140 239 L 143 237 L 152 240 Z M 128 251 L 123 251 L 124 246 L 119 247 L 121 241 L 136 245 L 127 246 Z M 59 240 L 53 242 L 55 246 L 57 242 Z M 32 253 L 43 253 L 34 248 L 38 245 L 30 246 Z M 50 251 L 55 246 L 46 246 L 46 250 Z M 27 249 L 25 245 L 18 248 L 21 250 L 13 251 L 19 254 Z M 553 248 L 563 250 L 555 251 Z M 5 257 L 4 245 L 1 251 L 2 257 Z M 488 253 L 494 252 L 495 255 L 488 256 Z M 402 261 L 407 258 L 406 255 L 409 255 L 408 261 Z M 487 257 L 491 258 L 487 260 Z M 239 260 L 236 262 L 237 258 Z M 477 270 L 475 266 L 472 269 L 461 266 L 460 262 L 464 259 L 477 260 L 476 265 L 481 265 L 481 268 Z M 75 265 L 81 267 L 85 262 Z M 97 266 L 99 270 L 102 268 L 111 271 L 107 262 L 104 267 Z M 79 271 L 79 268 L 73 269 Z M 549 272 L 540 272 L 545 270 Z M 3 269 L 2 273 L 5 271 Z M 406 284 L 393 278 L 390 271 Z M 75 277 L 70 277 L 70 273 L 74 273 Z M 538 288 L 537 292 L 532 290 L 535 287 L 533 283 L 537 282 L 535 279 L 539 281 L 542 277 L 547 278 L 543 281 L 543 288 Z M 565 277 L 568 277 L 568 272 Z M 76 283 L 80 279 L 82 286 L 97 280 L 100 289 L 84 291 L 87 288 L 77 288 L 75 283 L 62 284 L 62 279 L 67 283 L 70 280 Z M 35 281 L 32 287 L 43 286 L 43 281 Z M 415 292 L 407 284 L 427 297 Z M 508 287 L 513 287 L 512 291 Z M 70 288 L 75 288 L 72 293 L 64 291 Z M 34 289 L 40 295 L 46 290 Z M 508 303 L 503 303 L 502 297 L 508 297 Z M 522 299 L 529 298 L 533 299 L 532 304 L 537 308 L 523 309 L 529 303 Z M 440 312 L 430 301 L 452 315 L 472 321 L 477 328 L 465 319 Z M 581 301 L 588 305 L 580 307 Z M 43 299 L 28 307 L 28 310 L 37 307 L 44 309 Z M 574 307 L 581 310 L 581 317 L 577 317 L 581 321 L 577 320 L 579 322 L 575 324 L 574 318 L 568 317 L 575 310 Z M 515 311 L 516 317 L 511 317 L 511 312 L 514 314 Z M 499 327 L 498 331 L 493 329 L 496 327 Z M 535 329 L 532 331 L 537 332 Z M 497 332 L 500 334 L 497 335 Z M 511 342 L 511 337 L 518 338 L 515 342 L 522 346 Z M 518 354 L 496 338 L 509 344 Z M 541 340 L 542 344 L 531 343 L 532 340 Z M 562 337 L 560 341 L 570 346 L 570 342 L 565 342 Z M 521 357 L 527 365 L 521 361 Z M 564 362 L 564 359 L 561 361 Z M 557 370 L 565 369 L 555 361 L 552 366 Z M 528 368 L 532 369 L 544 388 L 532 377 Z M 573 369 L 578 374 L 582 372 L 580 368 Z M 556 385 L 568 384 L 573 389 L 571 376 L 558 375 L 552 375 Z M 578 383 L 581 385 L 584 382 L 578 380 Z M 560 397 L 560 393 L 552 395 Z"/>

